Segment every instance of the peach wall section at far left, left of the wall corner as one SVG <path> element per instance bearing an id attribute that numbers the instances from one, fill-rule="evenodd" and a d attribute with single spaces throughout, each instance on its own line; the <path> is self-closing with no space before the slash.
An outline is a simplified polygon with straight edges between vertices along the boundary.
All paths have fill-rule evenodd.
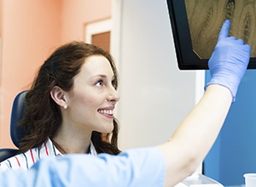
<path id="1" fill-rule="evenodd" d="M 13 99 L 61 41 L 61 0 L 3 0 L 0 146 L 9 147 Z"/>

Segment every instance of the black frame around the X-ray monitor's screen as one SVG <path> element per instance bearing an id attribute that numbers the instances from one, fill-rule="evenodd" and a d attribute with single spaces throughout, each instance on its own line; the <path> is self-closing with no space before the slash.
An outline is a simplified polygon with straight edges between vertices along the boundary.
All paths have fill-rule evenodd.
<path id="1" fill-rule="evenodd" d="M 194 52 L 184 0 L 166 0 L 172 26 L 172 37 L 180 70 L 208 70 L 208 59 Z M 247 69 L 256 69 L 256 58 L 250 58 Z"/>

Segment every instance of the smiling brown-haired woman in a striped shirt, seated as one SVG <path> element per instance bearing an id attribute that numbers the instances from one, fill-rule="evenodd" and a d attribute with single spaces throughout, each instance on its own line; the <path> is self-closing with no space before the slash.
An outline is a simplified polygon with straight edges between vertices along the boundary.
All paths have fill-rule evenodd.
<path id="1" fill-rule="evenodd" d="M 44 156 L 69 153 L 119 154 L 117 87 L 113 59 L 101 48 L 84 42 L 57 48 L 26 94 L 21 154 L 1 167 L 27 169 Z"/>

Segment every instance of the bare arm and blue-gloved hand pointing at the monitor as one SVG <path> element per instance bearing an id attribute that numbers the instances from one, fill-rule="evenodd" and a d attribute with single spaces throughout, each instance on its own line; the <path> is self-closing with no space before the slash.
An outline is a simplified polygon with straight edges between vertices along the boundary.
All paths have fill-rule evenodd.
<path id="1" fill-rule="evenodd" d="M 207 156 L 231 103 L 236 100 L 251 48 L 241 39 L 229 37 L 229 31 L 230 21 L 226 20 L 209 59 L 212 79 L 204 96 L 177 127 L 170 141 L 159 146 L 166 157 L 166 186 L 177 184 L 195 171 Z"/>

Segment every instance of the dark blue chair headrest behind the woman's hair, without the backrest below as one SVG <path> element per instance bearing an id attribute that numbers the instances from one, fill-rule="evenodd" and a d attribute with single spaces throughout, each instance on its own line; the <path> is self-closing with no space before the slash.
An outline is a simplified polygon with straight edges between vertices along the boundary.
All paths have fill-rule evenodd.
<path id="1" fill-rule="evenodd" d="M 27 91 L 22 91 L 17 94 L 13 103 L 11 119 L 10 119 L 10 134 L 11 139 L 16 147 L 20 148 L 20 139 L 24 137 L 24 128 L 18 127 L 18 122 L 20 122 L 24 109 L 25 109 L 25 98 Z"/>

